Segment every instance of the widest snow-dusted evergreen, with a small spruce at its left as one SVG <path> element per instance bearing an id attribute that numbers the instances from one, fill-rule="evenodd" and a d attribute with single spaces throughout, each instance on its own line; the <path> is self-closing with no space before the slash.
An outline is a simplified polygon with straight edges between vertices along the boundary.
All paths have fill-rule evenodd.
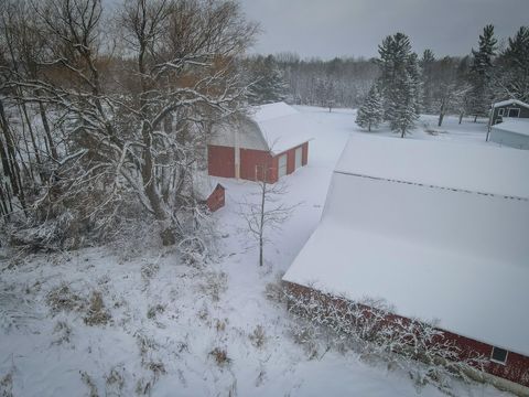
<path id="1" fill-rule="evenodd" d="M 410 39 L 396 33 L 384 39 L 378 47 L 381 75 L 384 118 L 391 130 L 403 138 L 418 119 L 421 103 L 420 71 Z"/>

